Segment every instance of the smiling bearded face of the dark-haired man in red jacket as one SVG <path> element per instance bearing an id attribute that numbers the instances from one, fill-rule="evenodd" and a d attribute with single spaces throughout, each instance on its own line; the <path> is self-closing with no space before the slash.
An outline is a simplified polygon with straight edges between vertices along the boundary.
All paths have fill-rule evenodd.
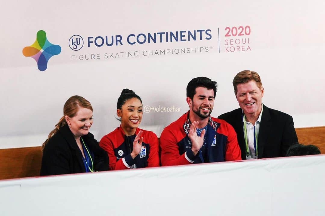
<path id="1" fill-rule="evenodd" d="M 197 87 L 193 99 L 187 97 L 190 113 L 205 119 L 209 117 L 214 105 L 214 91 L 205 87 Z"/>

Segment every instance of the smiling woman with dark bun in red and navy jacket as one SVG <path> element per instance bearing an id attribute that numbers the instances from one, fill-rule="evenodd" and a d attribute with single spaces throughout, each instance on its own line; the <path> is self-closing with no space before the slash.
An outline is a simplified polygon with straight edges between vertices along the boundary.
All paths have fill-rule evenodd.
<path id="1" fill-rule="evenodd" d="M 141 98 L 123 89 L 116 107 L 121 125 L 99 142 L 109 156 L 110 170 L 159 166 L 157 135 L 138 128 L 143 115 Z"/>

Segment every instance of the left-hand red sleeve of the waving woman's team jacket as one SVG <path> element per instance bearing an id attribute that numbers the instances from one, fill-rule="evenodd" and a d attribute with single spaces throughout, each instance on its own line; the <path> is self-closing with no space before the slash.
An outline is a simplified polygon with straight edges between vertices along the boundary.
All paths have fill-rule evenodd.
<path id="1" fill-rule="evenodd" d="M 129 169 L 127 166 L 123 164 L 122 159 L 116 162 L 116 156 L 114 154 L 114 149 L 113 149 L 113 142 L 108 137 L 104 136 L 100 140 L 99 146 L 102 149 L 104 149 L 108 154 L 108 157 L 110 159 L 110 164 L 109 164 L 110 170 Z"/>

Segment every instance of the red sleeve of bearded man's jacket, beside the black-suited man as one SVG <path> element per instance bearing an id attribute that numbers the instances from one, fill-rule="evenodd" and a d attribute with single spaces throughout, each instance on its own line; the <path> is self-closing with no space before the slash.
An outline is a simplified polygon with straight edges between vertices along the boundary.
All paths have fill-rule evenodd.
<path id="1" fill-rule="evenodd" d="M 240 161 L 241 151 L 238 145 L 237 134 L 230 124 L 227 125 L 228 137 L 226 142 L 225 161 Z"/>

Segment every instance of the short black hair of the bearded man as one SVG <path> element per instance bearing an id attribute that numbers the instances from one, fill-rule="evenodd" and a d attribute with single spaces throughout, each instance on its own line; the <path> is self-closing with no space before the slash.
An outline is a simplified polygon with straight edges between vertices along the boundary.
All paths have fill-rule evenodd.
<path id="1" fill-rule="evenodd" d="M 196 77 L 193 78 L 191 81 L 189 81 L 187 87 L 186 87 L 186 97 L 190 97 L 193 100 L 194 95 L 196 94 L 195 89 L 197 87 L 205 87 L 208 90 L 213 89 L 213 97 L 215 98 L 215 94 L 217 91 L 217 82 L 212 81 L 211 79 L 207 77 Z"/>

